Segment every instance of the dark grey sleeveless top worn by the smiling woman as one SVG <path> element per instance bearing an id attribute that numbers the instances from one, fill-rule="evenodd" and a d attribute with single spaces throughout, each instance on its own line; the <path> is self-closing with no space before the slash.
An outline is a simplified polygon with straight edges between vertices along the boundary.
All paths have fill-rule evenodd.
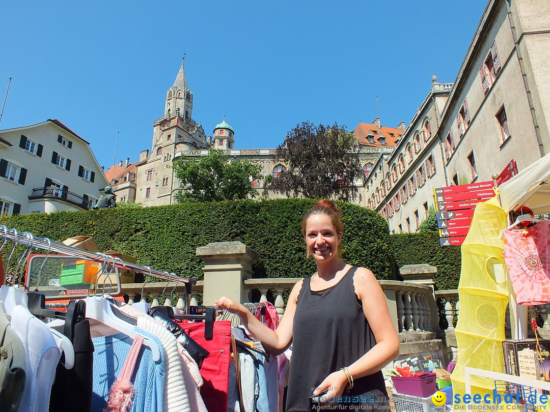
<path id="1" fill-rule="evenodd" d="M 336 285 L 322 291 L 311 291 L 311 277 L 304 279 L 294 315 L 285 410 L 309 410 L 309 397 L 324 378 L 351 365 L 375 346 L 375 337 L 355 294 L 356 271 L 351 268 Z M 386 404 L 382 371 L 356 379 L 348 395 L 348 402 L 338 403 L 338 410 L 361 404 L 361 410 L 375 410 L 375 405 Z"/>

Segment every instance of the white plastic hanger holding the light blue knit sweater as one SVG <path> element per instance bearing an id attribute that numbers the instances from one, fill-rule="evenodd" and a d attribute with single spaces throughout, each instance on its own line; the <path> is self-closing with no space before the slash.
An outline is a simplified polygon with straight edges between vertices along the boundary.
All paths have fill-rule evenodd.
<path id="1" fill-rule="evenodd" d="M 107 257 L 107 255 L 103 255 L 103 254 L 99 254 L 99 255 L 103 257 L 104 262 L 108 261 L 108 259 L 110 258 L 110 257 Z M 113 264 L 114 264 L 114 260 L 113 260 Z M 98 275 L 94 276 L 95 279 L 100 279 L 103 272 L 107 272 L 107 276 L 109 276 L 108 274 L 109 271 L 107 270 L 109 264 L 107 263 L 107 264 L 104 264 L 103 266 L 106 266 L 106 269 L 102 270 Z M 94 282 L 94 278 L 92 278 L 92 283 Z M 114 306 L 111 302 L 109 302 L 107 299 L 101 296 L 88 296 L 84 300 L 86 302 L 86 318 L 94 319 L 102 323 L 103 325 L 107 325 L 114 330 L 124 333 L 124 335 L 127 335 L 132 339 L 135 338 L 136 335 L 140 335 L 135 331 L 134 325 L 130 324 L 127 321 L 124 321 L 123 319 L 118 318 L 115 312 L 118 311 L 119 309 L 116 306 Z M 120 314 L 123 316 L 128 316 L 126 314 L 123 314 L 122 312 L 120 312 Z M 143 336 L 143 335 L 140 335 L 140 336 Z M 160 348 L 158 347 L 158 344 L 155 341 L 153 341 L 149 337 L 144 336 L 143 344 L 151 349 L 153 360 L 158 361 L 161 359 L 161 351 L 160 351 Z"/>

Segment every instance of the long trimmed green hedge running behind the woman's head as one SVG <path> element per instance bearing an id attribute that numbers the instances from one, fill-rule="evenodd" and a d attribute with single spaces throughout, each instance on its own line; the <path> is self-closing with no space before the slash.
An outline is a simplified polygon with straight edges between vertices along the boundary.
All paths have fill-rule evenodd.
<path id="1" fill-rule="evenodd" d="M 315 271 L 306 259 L 301 219 L 311 199 L 182 203 L 147 208 L 114 208 L 0 219 L 0 225 L 61 241 L 91 236 L 100 251 L 113 249 L 138 264 L 202 279 L 195 249 L 211 242 L 241 241 L 260 254 L 256 277 L 304 277 Z M 339 203 L 344 218 L 344 260 L 370 268 L 378 279 L 395 279 L 388 225 L 382 216 Z M 2 250 L 3 258 L 9 253 Z M 12 258 L 13 261 L 14 258 Z"/>

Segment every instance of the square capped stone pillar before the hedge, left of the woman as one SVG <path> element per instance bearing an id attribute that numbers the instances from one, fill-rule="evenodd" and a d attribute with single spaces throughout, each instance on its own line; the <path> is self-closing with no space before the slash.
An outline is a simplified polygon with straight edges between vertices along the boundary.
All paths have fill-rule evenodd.
<path id="1" fill-rule="evenodd" d="M 244 280 L 252 277 L 259 254 L 241 242 L 218 242 L 197 248 L 196 255 L 205 261 L 204 305 L 213 305 L 222 296 L 239 303 L 248 300 Z"/>

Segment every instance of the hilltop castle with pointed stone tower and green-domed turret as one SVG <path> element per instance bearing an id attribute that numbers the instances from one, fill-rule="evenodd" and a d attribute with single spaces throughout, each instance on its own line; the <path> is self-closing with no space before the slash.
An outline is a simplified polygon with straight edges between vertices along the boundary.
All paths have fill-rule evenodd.
<path id="1" fill-rule="evenodd" d="M 172 164 L 181 156 L 199 160 L 208 154 L 208 148 L 221 149 L 230 160 L 247 159 L 251 163 L 262 166 L 262 175 L 277 177 L 285 165 L 273 160 L 274 149 L 235 149 L 235 131 L 224 116 L 217 124 L 212 136 L 206 136 L 202 125 L 191 118 L 193 112 L 193 92 L 189 89 L 185 76 L 184 63 L 179 69 L 174 84 L 166 92 L 164 115 L 153 123 L 153 140 L 149 149 L 140 153 L 139 161 L 129 164 L 126 168 L 122 162 L 109 168 L 107 179 L 114 186 L 117 201 L 125 199 L 128 202 L 141 203 L 146 206 L 173 204 L 174 194 L 180 189 L 180 182 L 175 176 Z M 379 153 L 392 148 L 399 142 L 404 131 L 404 123 L 393 129 L 380 125 L 376 119 L 372 124 L 361 123 L 354 130 L 359 141 L 359 158 L 365 175 L 368 174 Z M 128 166 L 131 166 L 127 170 Z M 135 179 L 133 171 L 135 166 Z M 125 177 L 124 177 L 125 176 Z M 124 182 L 122 181 L 123 179 Z M 132 185 L 135 185 L 135 198 L 132 199 Z M 356 182 L 360 189 L 356 203 L 363 202 L 362 181 Z M 253 181 L 259 196 L 263 195 L 263 179 Z M 267 197 L 280 198 L 279 193 L 267 193 Z"/>

